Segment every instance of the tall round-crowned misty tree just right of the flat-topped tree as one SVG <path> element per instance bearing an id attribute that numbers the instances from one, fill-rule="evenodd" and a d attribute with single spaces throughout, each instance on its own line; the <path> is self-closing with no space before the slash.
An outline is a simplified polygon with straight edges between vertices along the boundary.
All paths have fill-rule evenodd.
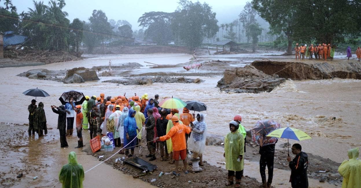
<path id="1" fill-rule="evenodd" d="M 173 34 L 191 48 L 199 47 L 203 38 L 212 38 L 217 30 L 216 13 L 207 3 L 180 0 L 171 20 Z"/>

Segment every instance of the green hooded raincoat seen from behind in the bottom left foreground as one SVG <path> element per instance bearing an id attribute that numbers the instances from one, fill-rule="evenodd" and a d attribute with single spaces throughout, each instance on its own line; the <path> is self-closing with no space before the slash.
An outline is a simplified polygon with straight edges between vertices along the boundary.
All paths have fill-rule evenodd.
<path id="1" fill-rule="evenodd" d="M 82 188 L 84 181 L 84 170 L 81 164 L 78 164 L 77 154 L 70 152 L 68 164 L 64 165 L 59 173 L 59 182 L 63 188 Z"/>

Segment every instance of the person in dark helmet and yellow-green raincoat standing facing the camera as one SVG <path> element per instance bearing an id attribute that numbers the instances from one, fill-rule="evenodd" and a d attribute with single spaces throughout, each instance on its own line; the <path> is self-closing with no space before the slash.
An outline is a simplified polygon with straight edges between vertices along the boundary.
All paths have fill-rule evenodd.
<path id="1" fill-rule="evenodd" d="M 223 157 L 226 158 L 226 170 L 228 170 L 227 186 L 233 184 L 233 176 L 236 176 L 235 187 L 240 187 L 244 168 L 244 138 L 243 135 L 237 131 L 239 123 L 231 121 L 229 123 L 230 133 L 225 137 L 225 152 Z"/>

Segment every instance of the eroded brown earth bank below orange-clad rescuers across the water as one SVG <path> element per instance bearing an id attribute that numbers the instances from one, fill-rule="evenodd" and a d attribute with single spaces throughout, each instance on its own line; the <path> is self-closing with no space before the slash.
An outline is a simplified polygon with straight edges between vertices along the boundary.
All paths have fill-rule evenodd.
<path id="1" fill-rule="evenodd" d="M 281 78 L 292 80 L 319 80 L 331 78 L 361 79 L 361 64 L 356 62 L 283 62 L 260 60 L 252 66 L 263 73 L 277 73 Z"/>

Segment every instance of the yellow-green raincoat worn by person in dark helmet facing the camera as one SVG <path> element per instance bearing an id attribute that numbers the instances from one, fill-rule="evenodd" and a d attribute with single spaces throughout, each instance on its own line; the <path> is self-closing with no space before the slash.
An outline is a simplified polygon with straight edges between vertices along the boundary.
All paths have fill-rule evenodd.
<path id="1" fill-rule="evenodd" d="M 239 131 L 230 132 L 225 137 L 226 170 L 241 171 L 244 166 L 244 137 Z M 243 158 L 237 161 L 238 156 Z"/>

